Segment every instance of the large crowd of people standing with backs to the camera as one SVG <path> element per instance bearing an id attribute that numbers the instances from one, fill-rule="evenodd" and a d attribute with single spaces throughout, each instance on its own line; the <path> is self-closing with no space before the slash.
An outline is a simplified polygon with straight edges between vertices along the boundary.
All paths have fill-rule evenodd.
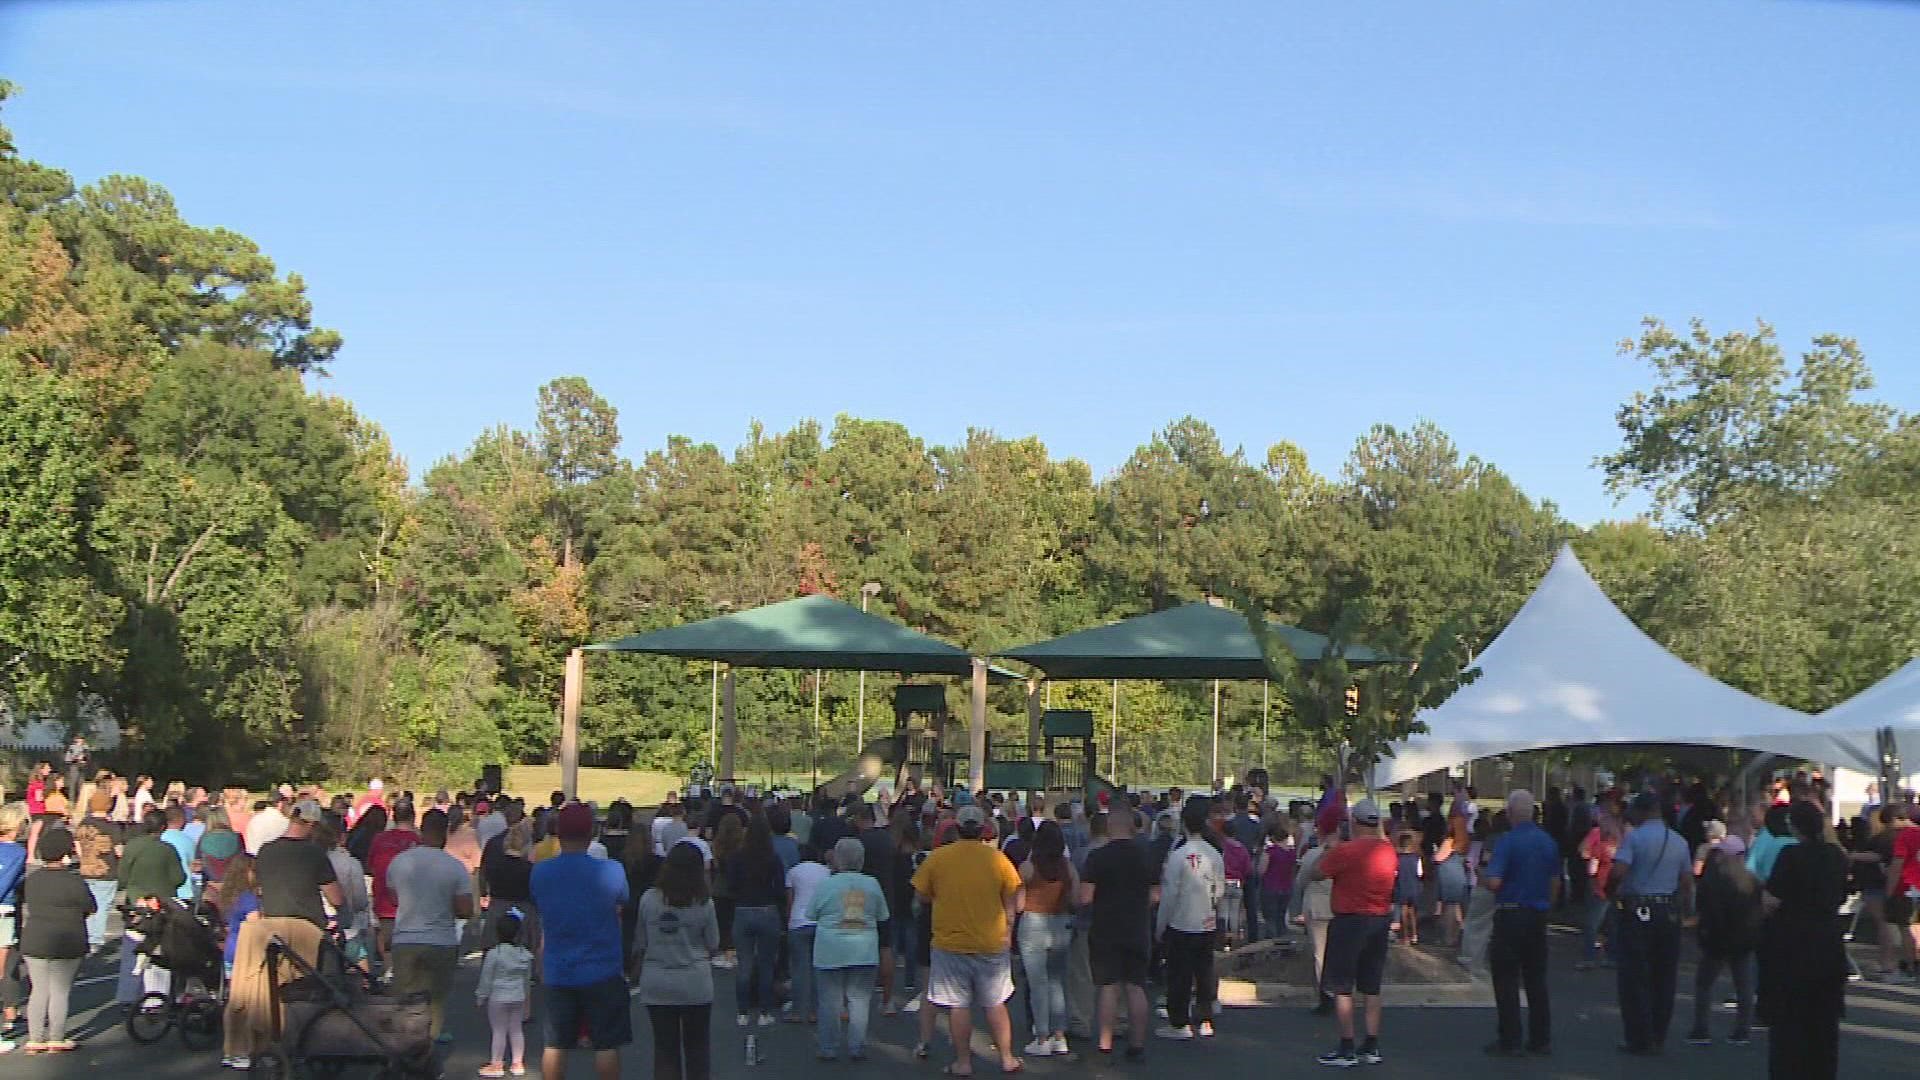
<path id="1" fill-rule="evenodd" d="M 1824 784 L 1807 776 L 1753 805 L 1655 782 L 1634 796 L 1549 790 L 1538 805 L 1513 792 L 1500 809 L 1467 786 L 1348 805 L 1332 776 L 1317 801 L 1286 807 L 1258 786 L 1033 805 L 937 784 L 881 786 L 872 801 L 722 786 L 670 796 L 651 821 L 626 801 L 601 811 L 559 792 L 528 807 L 380 780 L 267 798 L 186 784 L 156 796 L 150 776 L 104 771 L 71 780 L 42 763 L 25 799 L 0 809 L 0 1051 L 73 1049 L 67 992 L 86 955 L 113 947 L 115 905 L 127 913 L 115 999 L 129 1009 L 175 994 L 167 970 L 142 963 L 142 911 L 192 905 L 227 928 L 232 1068 L 248 1068 L 271 1036 L 257 986 L 269 936 L 309 953 L 324 938 L 371 980 L 422 995 L 440 1042 L 451 1040 L 455 972 L 478 963 L 486 1078 L 526 1072 L 536 1011 L 547 1076 L 582 1047 L 616 1076 L 637 999 L 655 1074 L 703 1080 L 714 969 L 733 970 L 749 1055 L 760 1028 L 791 1022 L 814 1028 L 820 1061 L 858 1061 L 877 1009 L 918 1015 L 922 1059 L 945 1017 L 952 1076 L 973 1072 L 975 1013 L 1002 1072 L 1066 1055 L 1071 1042 L 1139 1061 L 1148 1034 L 1213 1036 L 1225 947 L 1296 928 L 1313 957 L 1315 1011 L 1334 1024 L 1321 1065 L 1382 1061 L 1396 942 L 1484 963 L 1496 995 L 1486 1051 L 1548 1055 L 1555 913 L 1580 928 L 1578 970 L 1617 972 L 1622 1053 L 1665 1049 L 1692 926 L 1688 1042 L 1713 1043 L 1726 972 L 1728 1042 L 1764 1024 L 1776 1076 L 1832 1076 L 1849 894 L 1884 965 L 1876 976 L 1912 982 L 1916 970 L 1912 805 L 1870 805 L 1836 830 Z M 33 988 L 23 1040 L 21 967 Z"/>

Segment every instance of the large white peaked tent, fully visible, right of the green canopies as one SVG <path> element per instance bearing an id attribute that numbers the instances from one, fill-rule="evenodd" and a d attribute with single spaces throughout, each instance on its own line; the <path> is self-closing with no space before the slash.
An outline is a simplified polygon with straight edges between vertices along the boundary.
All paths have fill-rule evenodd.
<path id="1" fill-rule="evenodd" d="M 1872 742 L 1715 680 L 1672 655 L 1607 600 L 1572 548 L 1476 661 L 1480 678 L 1438 709 L 1427 734 L 1380 761 L 1375 782 L 1400 784 L 1461 761 L 1596 744 L 1757 749 L 1874 769 Z"/>

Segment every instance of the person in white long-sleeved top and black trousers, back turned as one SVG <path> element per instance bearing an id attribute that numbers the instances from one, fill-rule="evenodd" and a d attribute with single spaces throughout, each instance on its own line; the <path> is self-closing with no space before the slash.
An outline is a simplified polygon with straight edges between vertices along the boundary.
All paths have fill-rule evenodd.
<path id="1" fill-rule="evenodd" d="M 1181 807 L 1185 836 L 1167 851 L 1160 871 L 1160 915 L 1156 930 L 1167 955 L 1167 1024 L 1154 1032 L 1164 1040 L 1190 1040 L 1213 1034 L 1213 947 L 1219 942 L 1219 899 L 1227 890 L 1221 853 L 1208 834 L 1213 799 L 1194 796 Z"/>

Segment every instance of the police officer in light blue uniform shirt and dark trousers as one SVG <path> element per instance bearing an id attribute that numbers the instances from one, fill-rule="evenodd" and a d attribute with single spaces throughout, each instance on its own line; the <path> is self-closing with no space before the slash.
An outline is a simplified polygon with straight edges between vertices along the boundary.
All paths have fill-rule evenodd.
<path id="1" fill-rule="evenodd" d="M 1628 809 L 1634 832 L 1613 855 L 1617 930 L 1620 940 L 1620 1053 L 1653 1055 L 1667 1043 L 1674 1015 L 1674 972 L 1680 967 L 1680 909 L 1693 888 L 1693 855 L 1661 819 L 1653 792 L 1640 792 Z"/>

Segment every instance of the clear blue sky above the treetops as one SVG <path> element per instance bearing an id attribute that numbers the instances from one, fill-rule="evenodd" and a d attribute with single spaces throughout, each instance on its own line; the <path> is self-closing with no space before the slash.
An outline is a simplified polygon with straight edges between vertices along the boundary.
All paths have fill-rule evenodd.
<path id="1" fill-rule="evenodd" d="M 417 473 L 578 373 L 634 455 L 849 411 L 1104 475 L 1194 413 L 1331 473 L 1428 417 L 1594 521 L 1644 313 L 1920 407 L 1920 10 L 1319 8 L 61 0 L 0 73 L 29 156 L 305 275 Z"/>

